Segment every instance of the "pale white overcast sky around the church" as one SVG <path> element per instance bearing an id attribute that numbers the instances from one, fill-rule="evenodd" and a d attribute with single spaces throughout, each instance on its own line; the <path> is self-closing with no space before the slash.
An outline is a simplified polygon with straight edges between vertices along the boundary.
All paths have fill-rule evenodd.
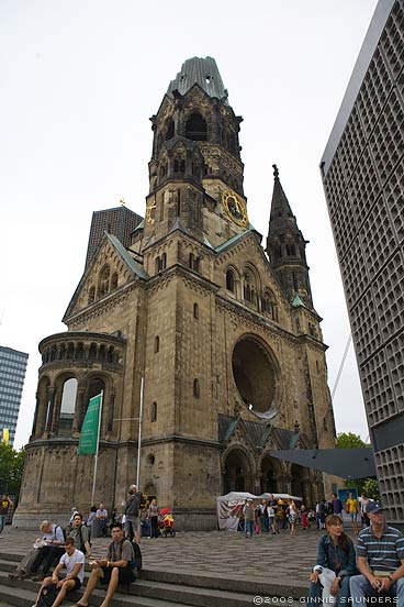
<path id="1" fill-rule="evenodd" d="M 92 212 L 144 216 L 153 133 L 183 60 L 216 59 L 244 117 L 244 189 L 267 236 L 272 164 L 306 247 L 333 390 L 350 333 L 318 164 L 377 0 L 2 0 L 0 344 L 30 354 L 14 446 L 30 438 L 38 342 L 83 272 Z M 368 438 L 352 346 L 337 432 Z"/>

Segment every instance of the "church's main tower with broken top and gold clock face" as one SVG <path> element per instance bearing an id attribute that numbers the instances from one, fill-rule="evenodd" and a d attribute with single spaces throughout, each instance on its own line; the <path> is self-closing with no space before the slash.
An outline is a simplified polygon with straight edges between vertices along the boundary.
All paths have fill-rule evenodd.
<path id="1" fill-rule="evenodd" d="M 217 245 L 248 224 L 238 142 L 215 60 L 193 57 L 169 84 L 156 115 L 144 247 L 176 229 Z"/>

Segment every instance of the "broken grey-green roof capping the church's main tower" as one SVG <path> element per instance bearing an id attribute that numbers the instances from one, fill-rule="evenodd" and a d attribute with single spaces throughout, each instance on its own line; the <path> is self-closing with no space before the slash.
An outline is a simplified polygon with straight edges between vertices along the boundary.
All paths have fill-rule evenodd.
<path id="1" fill-rule="evenodd" d="M 173 80 L 169 84 L 167 95 L 173 96 L 178 90 L 186 95 L 193 85 L 199 85 L 210 97 L 221 99 L 227 104 L 227 90 L 224 88 L 221 74 L 213 57 L 192 57 L 187 59 Z"/>

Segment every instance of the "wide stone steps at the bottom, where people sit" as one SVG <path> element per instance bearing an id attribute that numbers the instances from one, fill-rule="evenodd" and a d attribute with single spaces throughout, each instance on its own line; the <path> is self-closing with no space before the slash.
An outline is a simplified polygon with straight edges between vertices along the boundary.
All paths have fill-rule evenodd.
<path id="1" fill-rule="evenodd" d="M 11 580 L 23 554 L 10 554 L 0 549 L 0 607 L 32 607 L 40 588 L 38 582 Z M 243 558 L 243 555 L 240 555 Z M 89 571 L 86 571 L 86 580 Z M 217 574 L 194 574 L 153 567 L 142 571 L 134 584 L 119 586 L 111 607 L 251 607 L 252 605 L 301 605 L 306 588 L 291 581 L 288 585 L 265 581 L 231 577 Z M 81 592 L 69 593 L 63 605 L 79 600 Z M 105 596 L 103 588 L 96 589 L 89 604 L 98 606 Z"/>

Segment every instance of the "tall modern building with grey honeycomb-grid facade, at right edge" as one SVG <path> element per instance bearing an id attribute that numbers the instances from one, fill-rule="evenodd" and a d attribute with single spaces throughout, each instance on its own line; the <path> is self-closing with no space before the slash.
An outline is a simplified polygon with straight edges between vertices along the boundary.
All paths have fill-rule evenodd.
<path id="1" fill-rule="evenodd" d="M 381 0 L 321 170 L 378 478 L 404 523 L 404 1 Z"/>

